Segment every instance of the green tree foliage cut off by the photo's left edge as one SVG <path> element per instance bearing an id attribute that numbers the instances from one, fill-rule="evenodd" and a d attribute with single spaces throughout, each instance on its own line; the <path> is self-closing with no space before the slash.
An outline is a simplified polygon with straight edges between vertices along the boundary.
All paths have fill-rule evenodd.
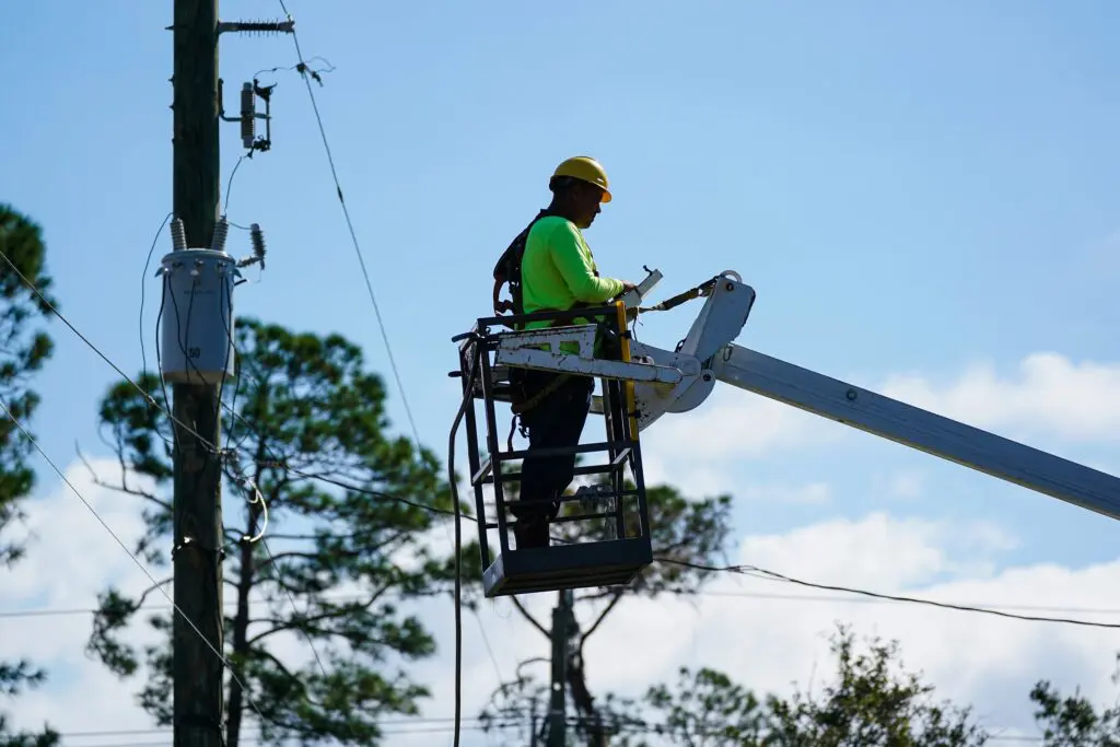
<path id="1" fill-rule="evenodd" d="M 46 253 L 43 228 L 12 206 L 0 204 L 0 254 L 18 270 L 0 260 L 0 401 L 11 415 L 0 418 L 0 534 L 24 519 L 21 503 L 35 486 L 28 464 L 34 447 L 13 419 L 26 428 L 35 414 L 39 395 L 30 380 L 54 352 L 50 337 L 32 325 L 37 318 L 49 318 L 48 304 L 57 305 L 47 295 L 52 279 L 46 273 Z M 41 298 L 28 282 L 39 289 Z M 22 542 L 10 536 L 0 541 L 0 563 L 6 567 L 25 552 Z M 0 691 L 13 698 L 24 688 L 41 684 L 45 676 L 26 661 L 0 663 Z M 53 747 L 57 743 L 58 735 L 49 728 L 39 734 L 13 732 L 0 715 L 0 747 Z"/>

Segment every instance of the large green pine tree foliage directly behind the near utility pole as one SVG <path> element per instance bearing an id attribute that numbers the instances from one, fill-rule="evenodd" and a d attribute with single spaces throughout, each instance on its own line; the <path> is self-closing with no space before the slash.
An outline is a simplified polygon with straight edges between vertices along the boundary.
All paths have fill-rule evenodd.
<path id="1" fill-rule="evenodd" d="M 437 514 L 424 506 L 450 511 L 448 486 L 430 451 L 417 454 L 409 439 L 386 435 L 384 385 L 364 370 L 355 345 L 242 319 L 237 352 L 237 381 L 223 392 L 236 412 L 224 413 L 228 442 L 241 455 L 224 464 L 224 582 L 232 603 L 225 625 L 226 653 L 248 691 L 228 684 L 227 744 L 236 747 L 250 717 L 267 744 L 381 744 L 376 721 L 418 713 L 429 694 L 404 667 L 431 656 L 436 644 L 403 605 L 450 588 L 454 559 L 423 542 L 437 526 Z M 152 376 L 142 385 L 159 392 Z M 114 487 L 144 503 L 147 532 L 138 550 L 166 566 L 170 423 L 123 384 L 105 396 L 101 422 L 122 467 Z M 127 479 L 125 469 L 156 489 Z M 264 520 L 253 485 L 268 507 L 263 542 L 245 539 Z M 469 582 L 480 573 L 477 550 L 465 548 L 464 558 Z M 106 590 L 90 650 L 121 676 L 146 663 L 140 702 L 169 723 L 169 617 L 150 618 L 167 636 L 160 646 L 139 652 L 120 641 L 141 603 Z M 277 653 L 284 637 L 308 656 L 314 642 L 321 666 L 315 657 L 292 662 Z"/>

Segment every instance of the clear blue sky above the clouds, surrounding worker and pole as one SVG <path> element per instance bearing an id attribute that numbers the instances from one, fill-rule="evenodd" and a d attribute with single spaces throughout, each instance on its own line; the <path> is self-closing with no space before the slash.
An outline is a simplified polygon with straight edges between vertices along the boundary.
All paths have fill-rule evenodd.
<path id="1" fill-rule="evenodd" d="M 575 153 L 612 178 L 615 200 L 587 236 L 600 268 L 638 280 L 656 267 L 666 295 L 739 271 L 758 292 L 739 342 L 768 354 L 870 386 L 906 372 L 948 384 L 976 362 L 1014 376 L 1034 352 L 1117 360 L 1116 3 L 288 4 L 304 54 L 335 67 L 319 108 L 421 438 L 439 454 L 457 404 L 450 337 L 488 312 L 494 260 Z M 278 13 L 233 0 L 221 12 Z M 0 198 L 43 224 L 63 311 L 129 373 L 146 283 L 155 365 L 155 264 L 142 274 L 171 200 L 171 3 L 39 0 L 2 18 Z M 293 54 L 290 37 L 224 38 L 227 100 Z M 360 343 L 407 432 L 307 92 L 292 72 L 269 80 L 273 147 L 242 165 L 230 206 L 262 225 L 268 269 L 239 289 L 237 312 Z M 235 124 L 223 139 L 224 190 Z M 169 249 L 165 233 L 157 258 Z M 230 250 L 248 253 L 246 236 L 232 231 Z M 697 310 L 651 319 L 643 339 L 672 346 Z M 62 464 L 75 440 L 108 456 L 95 414 L 114 374 L 54 327 L 36 430 Z M 1035 435 L 1118 464 L 1114 441 Z M 1020 540 L 1000 563 L 1113 557 L 1111 521 L 870 437 L 853 445 L 735 464 L 744 479 L 834 494 L 743 503 L 738 529 L 884 508 L 996 522 Z M 875 488 L 885 466 L 920 467 L 936 489 L 892 503 Z"/>

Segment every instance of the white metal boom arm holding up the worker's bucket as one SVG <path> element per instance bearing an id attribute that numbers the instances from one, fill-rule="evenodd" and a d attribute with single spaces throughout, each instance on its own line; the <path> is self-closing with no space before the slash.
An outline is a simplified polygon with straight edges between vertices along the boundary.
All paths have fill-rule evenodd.
<path id="1" fill-rule="evenodd" d="M 660 279 L 660 273 L 651 273 L 651 277 L 653 274 L 656 278 L 651 286 Z M 646 292 L 648 289 L 642 290 Z M 666 412 L 687 412 L 697 408 L 720 381 L 1082 508 L 1120 519 L 1120 478 L 732 345 L 750 314 L 754 289 L 744 284 L 736 273 L 725 272 L 704 295 L 707 301 L 703 309 L 675 351 L 633 342 L 631 352 L 634 363 L 624 364 L 589 358 L 586 352 L 582 355 L 563 355 L 556 347 L 550 352 L 538 351 L 540 356 L 530 362 L 524 357 L 528 351 L 511 339 L 508 354 L 504 353 L 506 345 L 503 344 L 496 363 L 633 381 L 641 430 Z M 640 299 L 625 300 L 627 306 L 633 307 Z M 573 340 L 587 329 L 594 327 L 554 329 L 552 342 Z M 511 335 L 511 338 L 516 337 L 517 334 Z M 541 342 L 539 333 L 533 337 L 533 343 Z M 585 339 L 580 342 L 587 345 Z M 645 371 L 638 372 L 641 368 Z"/>

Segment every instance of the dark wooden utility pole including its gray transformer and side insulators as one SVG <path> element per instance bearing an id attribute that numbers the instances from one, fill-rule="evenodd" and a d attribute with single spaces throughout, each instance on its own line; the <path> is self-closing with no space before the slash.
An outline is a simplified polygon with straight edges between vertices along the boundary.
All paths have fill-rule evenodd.
<path id="1" fill-rule="evenodd" d="M 295 34 L 283 21 L 225 22 L 217 0 L 175 0 L 172 136 L 174 251 L 164 258 L 161 373 L 175 401 L 172 561 L 176 614 L 171 624 L 175 747 L 225 745 L 222 605 L 222 387 L 234 375 L 233 288 L 237 267 L 264 262 L 253 224 L 253 256 L 225 252 L 221 202 L 220 120 L 240 122 L 250 153 L 268 150 L 271 86 L 245 83 L 240 116 L 227 116 L 218 77 L 224 32 Z M 256 99 L 265 102 L 256 113 Z M 256 121 L 265 137 L 256 137 Z M 236 674 L 236 673 L 231 673 Z"/>

